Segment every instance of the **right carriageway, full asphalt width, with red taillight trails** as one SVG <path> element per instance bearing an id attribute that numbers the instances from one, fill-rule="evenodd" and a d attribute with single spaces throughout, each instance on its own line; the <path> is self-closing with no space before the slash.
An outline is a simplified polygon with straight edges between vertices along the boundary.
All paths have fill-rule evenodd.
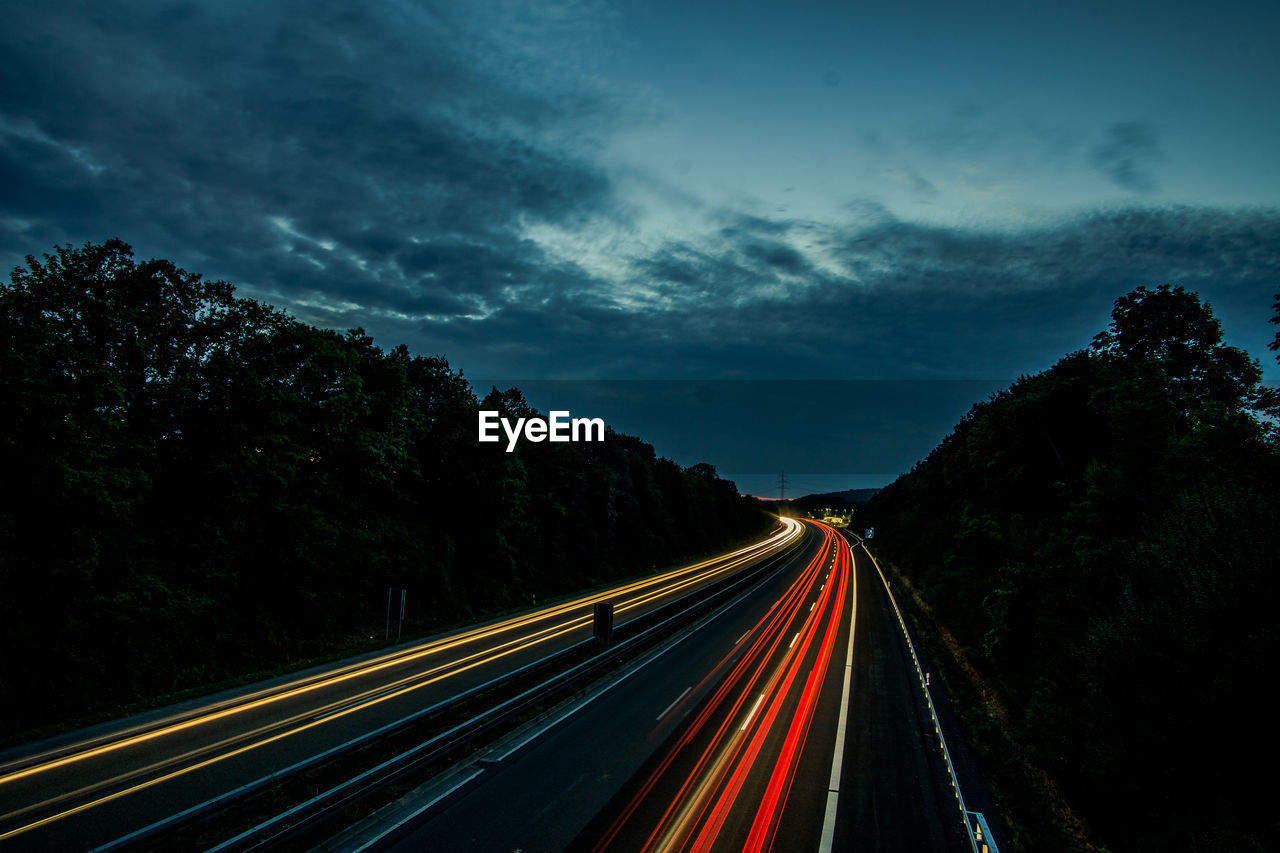
<path id="1" fill-rule="evenodd" d="M 424 790 L 407 822 L 333 849 L 969 850 L 883 585 L 809 524 L 820 537 L 785 571 L 447 795 Z"/>

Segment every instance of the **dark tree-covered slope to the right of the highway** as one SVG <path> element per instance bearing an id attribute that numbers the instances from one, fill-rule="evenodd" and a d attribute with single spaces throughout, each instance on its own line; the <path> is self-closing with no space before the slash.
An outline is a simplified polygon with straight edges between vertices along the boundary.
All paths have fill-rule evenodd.
<path id="1" fill-rule="evenodd" d="M 1112 318 L 863 519 L 1096 843 L 1280 849 L 1275 393 L 1194 293 L 1138 288 Z"/>

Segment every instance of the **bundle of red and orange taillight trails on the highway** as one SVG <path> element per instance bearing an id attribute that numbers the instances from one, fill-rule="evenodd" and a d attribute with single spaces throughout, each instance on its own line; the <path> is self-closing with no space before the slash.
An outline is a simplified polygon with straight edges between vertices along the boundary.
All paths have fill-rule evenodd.
<path id="1" fill-rule="evenodd" d="M 840 710 L 844 666 L 833 661 L 852 599 L 849 546 L 829 526 L 822 533 L 822 547 L 718 665 L 727 671 L 714 692 L 618 799 L 591 849 L 763 850 L 780 833 L 790 847 L 819 847 L 827 798 L 812 783 L 842 743 L 809 744 L 809 735 L 819 702 L 828 720 Z"/>

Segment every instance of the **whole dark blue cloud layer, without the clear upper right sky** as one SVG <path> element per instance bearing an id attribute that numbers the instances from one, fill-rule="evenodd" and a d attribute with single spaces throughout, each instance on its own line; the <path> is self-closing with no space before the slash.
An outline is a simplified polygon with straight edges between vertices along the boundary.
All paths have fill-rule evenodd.
<path id="1" fill-rule="evenodd" d="M 607 10 L 529 9 L 19 4 L 0 33 L 0 261 L 118 236 L 472 375 L 1007 378 L 1162 282 L 1265 355 L 1280 213 L 1151 201 L 1149 124 L 1089 152 L 1142 206 L 941 225 L 850 187 L 842 214 L 805 218 L 646 178 L 698 222 L 650 229 L 605 151 L 652 101 L 554 59 L 612 37 Z M 980 150 L 980 118 L 928 142 Z M 891 177 L 928 201 L 925 174 Z"/>

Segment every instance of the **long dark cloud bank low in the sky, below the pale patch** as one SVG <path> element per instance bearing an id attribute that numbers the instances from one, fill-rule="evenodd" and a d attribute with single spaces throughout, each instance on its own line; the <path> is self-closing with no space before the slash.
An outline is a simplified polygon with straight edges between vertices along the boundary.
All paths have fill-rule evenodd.
<path id="1" fill-rule="evenodd" d="M 1088 346 L 1116 297 L 1165 282 L 1201 292 L 1231 342 L 1265 356 L 1280 288 L 1276 210 L 1120 209 L 1011 231 L 860 218 L 817 254 L 792 248 L 799 277 L 754 259 L 760 241 L 717 232 L 634 259 L 631 278 L 659 295 L 639 306 L 563 270 L 585 278 L 389 339 L 520 378 L 1009 379 Z"/>

